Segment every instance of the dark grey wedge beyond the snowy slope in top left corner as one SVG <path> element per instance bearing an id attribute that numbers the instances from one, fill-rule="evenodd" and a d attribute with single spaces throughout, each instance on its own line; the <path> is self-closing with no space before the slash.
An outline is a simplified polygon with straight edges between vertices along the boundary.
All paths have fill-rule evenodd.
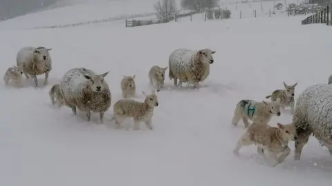
<path id="1" fill-rule="evenodd" d="M 0 0 L 0 20 L 45 8 L 58 0 Z"/>

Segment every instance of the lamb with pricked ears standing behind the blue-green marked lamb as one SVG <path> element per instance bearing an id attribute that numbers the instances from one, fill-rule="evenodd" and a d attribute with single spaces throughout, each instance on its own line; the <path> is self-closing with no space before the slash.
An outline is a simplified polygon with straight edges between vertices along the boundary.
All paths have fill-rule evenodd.
<path id="1" fill-rule="evenodd" d="M 275 90 L 271 95 L 266 96 L 266 99 L 271 98 L 271 101 L 276 101 L 277 98 L 280 99 L 280 106 L 284 110 L 285 107 L 291 107 L 291 114 L 294 112 L 294 93 L 295 93 L 295 86 L 297 83 L 294 85 L 288 86 L 284 82 L 284 90 Z"/>

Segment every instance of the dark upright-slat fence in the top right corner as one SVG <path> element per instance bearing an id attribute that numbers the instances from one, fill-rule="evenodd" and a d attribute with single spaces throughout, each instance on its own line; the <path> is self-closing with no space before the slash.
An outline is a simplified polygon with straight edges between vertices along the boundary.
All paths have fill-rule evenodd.
<path id="1" fill-rule="evenodd" d="M 332 25 L 332 14 L 330 6 L 326 6 L 324 10 L 317 12 L 306 19 L 302 20 L 302 25 L 315 24 L 315 23 L 326 23 L 326 25 Z"/>

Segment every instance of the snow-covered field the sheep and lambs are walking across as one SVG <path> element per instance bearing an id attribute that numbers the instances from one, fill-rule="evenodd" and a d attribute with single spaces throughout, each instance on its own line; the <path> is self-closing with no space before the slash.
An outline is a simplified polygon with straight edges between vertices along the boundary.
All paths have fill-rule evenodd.
<path id="1" fill-rule="evenodd" d="M 69 13 L 68 13 L 69 14 Z M 23 19 L 24 17 L 22 17 Z M 54 18 L 55 19 L 55 18 Z M 331 185 L 332 157 L 311 137 L 302 159 L 272 168 L 255 146 L 232 154 L 245 132 L 230 124 L 241 99 L 264 100 L 273 90 L 298 82 L 295 97 L 308 85 L 327 83 L 331 74 L 331 27 L 300 25 L 304 17 L 260 17 L 193 21 L 124 28 L 83 25 L 74 28 L 19 30 L 0 23 L 1 63 L 16 63 L 26 45 L 53 48 L 49 85 L 5 87 L 0 83 L 0 185 Z M 18 20 L 17 20 L 18 21 Z M 61 22 L 61 21 L 59 21 Z M 12 23 L 12 22 L 11 22 Z M 18 23 L 18 22 L 17 22 Z M 24 24 L 24 23 L 22 23 Z M 149 92 L 152 65 L 167 66 L 176 48 L 216 51 L 208 79 L 199 90 L 176 90 L 166 72 L 158 92 L 154 130 L 115 129 L 113 103 L 121 99 L 123 75 L 136 74 L 138 101 Z M 50 104 L 48 90 L 71 68 L 107 72 L 112 106 L 99 124 L 99 114 L 86 121 L 71 109 Z M 39 76 L 42 85 L 44 76 Z M 131 122 L 128 120 L 127 122 Z M 275 117 L 289 123 L 288 110 Z M 294 143 L 290 144 L 293 151 Z"/>

